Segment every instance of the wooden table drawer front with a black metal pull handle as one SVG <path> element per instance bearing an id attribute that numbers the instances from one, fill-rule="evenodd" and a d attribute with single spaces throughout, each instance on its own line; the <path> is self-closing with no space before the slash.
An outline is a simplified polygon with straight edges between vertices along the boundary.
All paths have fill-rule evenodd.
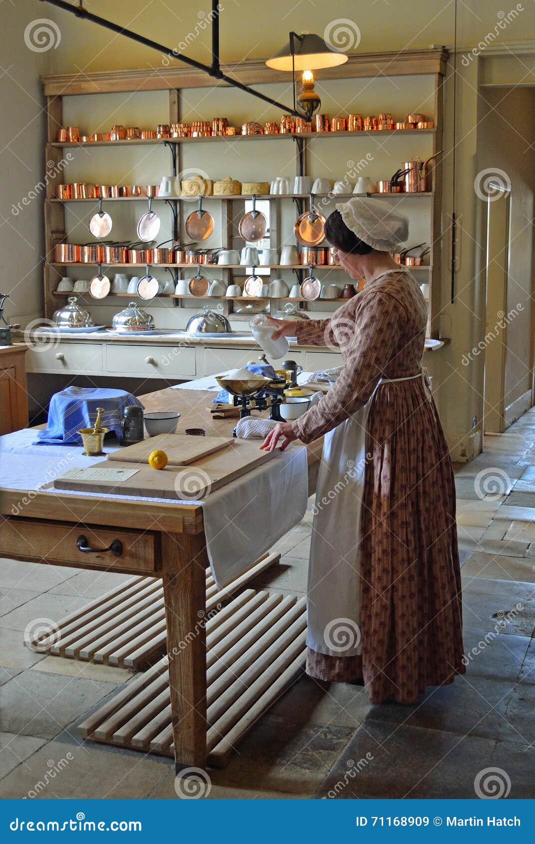
<path id="1" fill-rule="evenodd" d="M 102 550 L 95 554 L 78 550 L 80 537 L 85 537 L 84 545 Z M 105 550 L 117 540 L 121 548 L 116 554 Z M 0 556 L 133 574 L 150 574 L 160 568 L 158 534 L 22 517 L 10 517 L 0 524 Z"/>

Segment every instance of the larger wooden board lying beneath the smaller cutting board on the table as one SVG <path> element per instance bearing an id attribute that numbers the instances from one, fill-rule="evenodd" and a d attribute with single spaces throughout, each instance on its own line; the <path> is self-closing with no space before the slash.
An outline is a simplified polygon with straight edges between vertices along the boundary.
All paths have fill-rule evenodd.
<path id="1" fill-rule="evenodd" d="M 78 490 L 79 492 L 99 492 L 101 495 L 135 495 L 142 498 L 169 498 L 200 500 L 210 492 L 219 490 L 224 484 L 240 478 L 252 469 L 267 463 L 279 453 L 261 452 L 260 441 L 247 442 L 233 440 L 229 448 L 215 452 L 198 460 L 191 466 L 166 466 L 165 469 L 153 469 L 149 465 L 140 465 L 132 477 L 120 480 L 88 480 L 68 477 L 76 470 L 54 480 L 57 490 Z M 132 469 L 132 463 L 126 461 L 102 461 L 95 463 L 95 468 Z M 89 467 L 91 468 L 91 467 Z"/>

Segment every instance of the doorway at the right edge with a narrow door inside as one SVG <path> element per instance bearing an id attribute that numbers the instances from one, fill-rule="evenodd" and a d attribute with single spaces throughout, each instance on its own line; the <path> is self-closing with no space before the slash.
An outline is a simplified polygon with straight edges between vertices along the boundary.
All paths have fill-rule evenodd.
<path id="1" fill-rule="evenodd" d="M 480 93 L 474 187 L 484 218 L 484 434 L 492 435 L 534 403 L 535 89 Z"/>

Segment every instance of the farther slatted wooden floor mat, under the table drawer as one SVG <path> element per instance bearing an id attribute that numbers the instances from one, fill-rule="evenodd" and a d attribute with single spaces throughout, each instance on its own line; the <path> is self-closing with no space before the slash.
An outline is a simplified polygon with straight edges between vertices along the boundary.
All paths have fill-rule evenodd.
<path id="1" fill-rule="evenodd" d="M 272 565 L 280 554 L 265 554 L 224 589 L 206 575 L 206 612 L 221 609 L 232 595 Z M 28 647 L 62 657 L 138 670 L 166 650 L 164 590 L 157 577 L 132 577 L 53 628 L 41 628 Z"/>

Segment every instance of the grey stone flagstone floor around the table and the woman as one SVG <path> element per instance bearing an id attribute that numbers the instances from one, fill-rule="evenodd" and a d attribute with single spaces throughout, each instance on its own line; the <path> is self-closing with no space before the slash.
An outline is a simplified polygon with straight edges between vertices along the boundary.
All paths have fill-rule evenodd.
<path id="1" fill-rule="evenodd" d="M 467 674 L 418 704 L 370 706 L 303 676 L 257 722 L 209 798 L 535 797 L 535 408 L 456 468 Z M 256 587 L 304 593 L 311 511 Z M 83 741 L 76 726 L 131 677 L 47 657 L 26 625 L 59 619 L 119 575 L 0 560 L 0 793 L 176 798 L 171 760 Z M 488 771 L 492 769 L 492 771 Z"/>

